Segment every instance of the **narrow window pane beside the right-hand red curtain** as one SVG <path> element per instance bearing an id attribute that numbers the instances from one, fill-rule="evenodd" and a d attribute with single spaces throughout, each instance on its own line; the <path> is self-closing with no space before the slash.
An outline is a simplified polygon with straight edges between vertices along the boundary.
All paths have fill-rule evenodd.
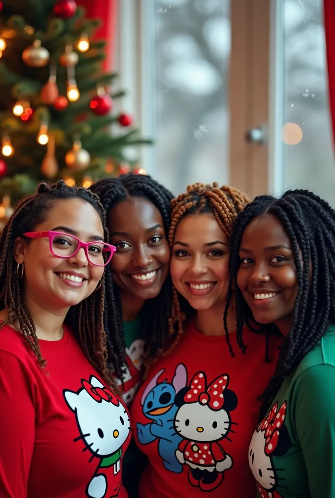
<path id="1" fill-rule="evenodd" d="M 284 0 L 283 166 L 280 189 L 308 188 L 335 203 L 322 0 Z M 280 165 L 279 165 L 280 166 Z"/>

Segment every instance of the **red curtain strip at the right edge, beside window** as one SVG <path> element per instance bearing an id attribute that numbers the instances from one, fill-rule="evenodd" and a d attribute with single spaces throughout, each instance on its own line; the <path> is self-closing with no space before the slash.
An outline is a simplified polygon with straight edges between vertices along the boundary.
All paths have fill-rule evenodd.
<path id="1" fill-rule="evenodd" d="M 324 0 L 328 63 L 328 86 L 333 134 L 335 136 L 335 0 Z"/>

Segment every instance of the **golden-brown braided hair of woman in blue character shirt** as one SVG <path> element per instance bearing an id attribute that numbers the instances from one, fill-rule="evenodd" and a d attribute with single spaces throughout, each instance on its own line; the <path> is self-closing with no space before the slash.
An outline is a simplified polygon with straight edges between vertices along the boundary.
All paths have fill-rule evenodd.
<path id="1" fill-rule="evenodd" d="M 230 239 L 233 229 L 233 222 L 244 206 L 248 204 L 249 199 L 240 190 L 227 185 L 218 187 L 217 183 L 204 185 L 195 183 L 188 185 L 186 192 L 180 194 L 171 202 L 171 225 L 168 233 L 168 242 L 170 247 L 173 246 L 175 230 L 184 216 L 192 214 L 211 214 L 215 217 L 221 230 Z M 177 345 L 183 332 L 183 320 L 194 311 L 188 305 L 187 301 L 179 296 L 173 287 L 173 312 L 170 319 L 170 336 L 174 334 L 174 341 L 165 352 L 170 353 Z M 226 340 L 232 354 L 229 342 L 228 332 L 226 331 Z"/>

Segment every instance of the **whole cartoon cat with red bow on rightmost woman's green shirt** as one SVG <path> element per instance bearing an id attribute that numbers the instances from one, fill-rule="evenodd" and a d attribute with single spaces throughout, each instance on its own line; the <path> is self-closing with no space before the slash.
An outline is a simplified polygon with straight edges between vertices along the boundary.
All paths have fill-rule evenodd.
<path id="1" fill-rule="evenodd" d="M 282 498 L 277 490 L 280 492 L 279 482 L 282 483 L 283 478 L 278 478 L 273 457 L 285 455 L 291 447 L 285 426 L 286 408 L 286 401 L 279 410 L 278 403 L 273 405 L 255 430 L 249 446 L 249 465 L 261 498 Z"/>

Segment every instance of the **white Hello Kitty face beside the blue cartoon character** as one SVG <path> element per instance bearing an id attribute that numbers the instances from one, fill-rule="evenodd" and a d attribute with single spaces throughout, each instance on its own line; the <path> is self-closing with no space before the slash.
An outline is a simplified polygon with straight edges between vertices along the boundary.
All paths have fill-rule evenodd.
<path id="1" fill-rule="evenodd" d="M 213 411 L 208 405 L 185 403 L 175 414 L 175 429 L 190 441 L 219 441 L 230 429 L 230 417 L 225 410 Z"/>

